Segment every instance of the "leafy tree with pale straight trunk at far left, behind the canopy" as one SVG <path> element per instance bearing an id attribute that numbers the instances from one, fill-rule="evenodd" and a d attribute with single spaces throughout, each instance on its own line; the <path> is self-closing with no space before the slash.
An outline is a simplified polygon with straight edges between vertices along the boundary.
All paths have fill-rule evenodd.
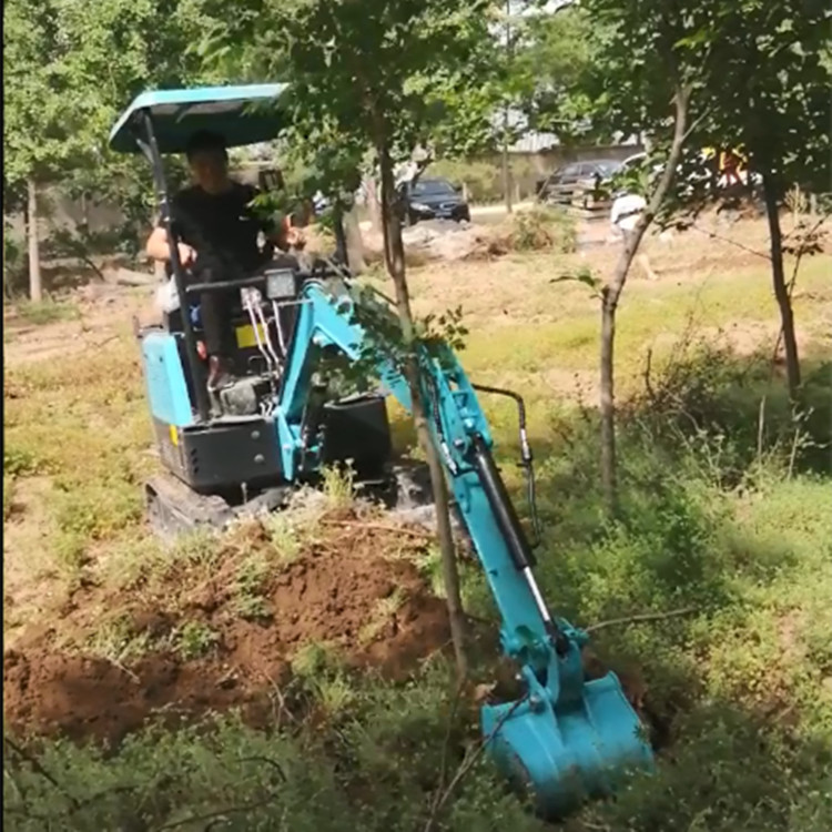
<path id="1" fill-rule="evenodd" d="M 202 0 L 10 0 L 3 8 L 7 187 L 28 191 L 30 294 L 41 296 L 38 194 L 119 202 L 133 230 L 148 225 L 146 165 L 109 152 L 121 110 L 155 85 L 197 80 L 186 47 L 206 24 Z M 42 206 L 41 206 L 42 207 Z"/>

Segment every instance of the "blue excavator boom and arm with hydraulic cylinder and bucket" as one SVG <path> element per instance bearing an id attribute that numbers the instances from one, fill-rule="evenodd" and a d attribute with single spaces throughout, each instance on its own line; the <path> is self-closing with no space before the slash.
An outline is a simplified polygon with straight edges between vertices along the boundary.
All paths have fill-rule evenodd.
<path id="1" fill-rule="evenodd" d="M 342 287 L 307 281 L 290 351 L 276 423 L 284 470 L 292 476 L 314 448 L 304 447 L 303 412 L 319 351 L 359 361 L 367 333 L 357 298 Z M 366 301 L 363 301 L 366 303 Z M 385 304 L 376 312 L 394 317 Z M 476 390 L 447 345 L 418 347 L 423 400 L 432 439 L 499 610 L 500 642 L 519 666 L 525 694 L 485 706 L 481 728 L 498 767 L 534 795 L 537 809 L 559 815 L 581 800 L 613 790 L 621 773 L 650 768 L 652 754 L 618 678 L 585 679 L 584 631 L 552 617 L 532 574 L 535 565 L 516 510 L 494 461 L 494 445 Z M 410 410 L 406 379 L 384 356 L 376 374 Z"/>

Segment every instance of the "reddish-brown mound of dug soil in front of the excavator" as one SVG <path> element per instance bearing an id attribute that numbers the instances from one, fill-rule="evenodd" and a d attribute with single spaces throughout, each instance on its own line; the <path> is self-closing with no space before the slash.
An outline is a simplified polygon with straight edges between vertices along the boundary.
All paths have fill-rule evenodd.
<path id="1" fill-rule="evenodd" d="M 250 723 L 265 726 L 305 645 L 327 643 L 347 667 L 402 678 L 447 643 L 444 601 L 412 560 L 383 557 L 400 554 L 394 530 L 355 518 L 335 541 L 270 568 L 257 593 L 241 597 L 246 564 L 268 564 L 262 558 L 274 549 L 265 535 L 247 534 L 245 547 L 236 541 L 202 572 L 177 565 L 115 596 L 78 591 L 63 620 L 6 652 L 7 726 L 115 743 L 151 717 L 240 708 Z"/>

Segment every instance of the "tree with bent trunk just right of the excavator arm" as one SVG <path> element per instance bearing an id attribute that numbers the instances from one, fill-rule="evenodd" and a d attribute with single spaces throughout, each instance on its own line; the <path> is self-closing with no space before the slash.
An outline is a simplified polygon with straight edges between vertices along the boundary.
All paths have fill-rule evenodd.
<path id="1" fill-rule="evenodd" d="M 566 26 L 587 26 L 591 20 L 588 51 L 590 64 L 566 74 L 558 90 L 558 112 L 569 112 L 565 129 L 572 134 L 589 124 L 596 133 L 647 134 L 651 153 L 646 169 L 657 165 L 646 205 L 623 246 L 610 278 L 599 286 L 601 298 L 600 417 L 601 484 L 607 510 L 617 510 L 617 448 L 615 399 L 616 315 L 627 276 L 641 241 L 662 212 L 691 132 L 691 112 L 698 103 L 698 68 L 686 61 L 680 40 L 687 19 L 676 3 L 639 0 L 584 0 L 580 11 L 556 17 Z M 568 103 L 565 103 L 568 102 Z M 570 128 L 570 121 L 572 126 Z M 693 125 L 696 126 L 696 124 Z"/>

